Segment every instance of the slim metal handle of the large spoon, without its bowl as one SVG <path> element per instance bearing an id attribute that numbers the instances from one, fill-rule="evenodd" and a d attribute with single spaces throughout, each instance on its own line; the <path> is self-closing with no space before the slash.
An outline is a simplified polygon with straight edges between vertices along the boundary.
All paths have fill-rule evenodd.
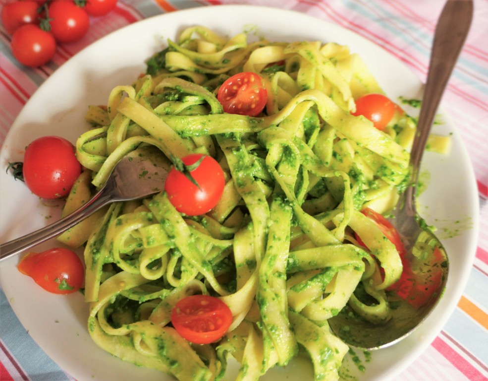
<path id="1" fill-rule="evenodd" d="M 434 42 L 429 64 L 429 74 L 420 109 L 417 134 L 413 142 L 410 166 L 411 184 L 419 176 L 419 166 L 424 153 L 434 116 L 447 81 L 457 62 L 473 18 L 472 0 L 448 0 L 442 9 L 435 28 Z"/>

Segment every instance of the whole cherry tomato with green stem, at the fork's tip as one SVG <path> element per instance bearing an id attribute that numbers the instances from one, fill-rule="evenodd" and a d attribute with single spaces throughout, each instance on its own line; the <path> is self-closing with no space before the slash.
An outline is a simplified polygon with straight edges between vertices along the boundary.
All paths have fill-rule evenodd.
<path id="1" fill-rule="evenodd" d="M 171 168 L 164 183 L 169 201 L 177 211 L 189 216 L 205 214 L 217 205 L 223 188 L 225 178 L 217 160 L 211 156 L 191 154 L 185 156 L 182 162 L 191 167 L 203 157 L 198 167 L 189 171 L 189 175 L 198 184 L 198 187 L 185 176 L 184 171 Z M 200 187 L 200 188 L 199 188 Z"/>

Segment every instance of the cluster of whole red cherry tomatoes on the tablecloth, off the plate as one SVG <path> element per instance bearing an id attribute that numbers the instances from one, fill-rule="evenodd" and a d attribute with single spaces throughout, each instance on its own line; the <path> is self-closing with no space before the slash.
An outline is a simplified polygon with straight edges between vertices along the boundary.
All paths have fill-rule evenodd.
<path id="1" fill-rule="evenodd" d="M 117 0 L 16 0 L 1 9 L 1 22 L 12 35 L 14 57 L 26 66 L 37 67 L 51 61 L 56 43 L 83 38 L 90 16 L 104 16 Z"/>

